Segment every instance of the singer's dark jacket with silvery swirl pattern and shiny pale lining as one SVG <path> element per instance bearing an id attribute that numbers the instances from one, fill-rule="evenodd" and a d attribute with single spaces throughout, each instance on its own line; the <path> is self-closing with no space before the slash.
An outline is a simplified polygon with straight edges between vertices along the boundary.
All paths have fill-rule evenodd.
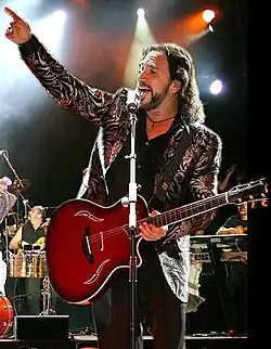
<path id="1" fill-rule="evenodd" d="M 47 92 L 67 111 L 90 120 L 99 127 L 78 196 L 85 195 L 100 204 L 107 204 L 105 173 L 120 152 L 129 135 L 129 120 L 125 108 L 127 90 L 118 89 L 108 93 L 91 88 L 62 66 L 33 36 L 20 46 L 22 57 Z M 166 195 L 166 209 L 183 205 L 188 197 L 201 199 L 217 193 L 217 177 L 221 161 L 221 140 L 205 125 L 195 125 L 192 143 L 188 147 Z M 175 120 L 173 133 L 163 156 L 160 173 L 156 174 L 155 188 L 160 182 L 165 169 L 181 139 L 184 125 Z M 166 242 L 175 240 L 180 248 L 179 258 L 171 258 L 167 251 L 159 254 L 166 280 L 175 294 L 188 300 L 188 279 L 190 264 L 189 235 L 204 230 L 214 219 L 208 211 L 170 229 Z M 185 236 L 181 236 L 185 234 Z"/>

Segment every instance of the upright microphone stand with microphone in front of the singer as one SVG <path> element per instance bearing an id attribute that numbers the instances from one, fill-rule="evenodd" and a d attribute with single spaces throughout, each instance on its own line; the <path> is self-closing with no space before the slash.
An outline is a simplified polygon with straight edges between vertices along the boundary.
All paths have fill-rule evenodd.
<path id="1" fill-rule="evenodd" d="M 137 326 L 137 283 L 138 283 L 138 271 L 137 271 L 137 254 L 136 254 L 136 235 L 137 235 L 137 190 L 136 183 L 136 125 L 138 121 L 137 104 L 129 103 L 129 120 L 131 125 L 131 153 L 126 158 L 130 159 L 130 182 L 129 182 L 129 231 L 130 231 L 130 262 L 129 262 L 129 283 L 130 283 L 130 349 L 136 349 L 136 326 Z"/>

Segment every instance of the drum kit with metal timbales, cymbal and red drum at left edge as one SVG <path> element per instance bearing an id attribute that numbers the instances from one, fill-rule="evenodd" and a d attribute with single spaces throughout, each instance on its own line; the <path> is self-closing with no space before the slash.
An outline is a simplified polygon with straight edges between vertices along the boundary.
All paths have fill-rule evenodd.
<path id="1" fill-rule="evenodd" d="M 8 156 L 4 156 L 10 169 L 12 170 L 15 180 L 9 188 L 9 192 L 17 197 L 16 209 L 12 209 L 4 218 L 3 227 L 0 227 L 0 254 L 3 255 L 2 261 L 5 264 L 5 271 L 2 272 L 7 279 L 17 277 L 35 277 L 42 280 L 42 300 L 43 309 L 40 315 L 52 315 L 55 314 L 54 310 L 50 309 L 51 305 L 51 290 L 50 280 L 48 275 L 46 251 L 41 249 L 41 246 L 37 245 L 25 245 L 18 254 L 13 254 L 9 249 L 9 243 L 15 235 L 20 227 L 23 227 L 28 219 L 28 211 L 31 207 L 28 204 L 28 199 L 23 196 L 23 191 L 29 188 L 30 181 L 27 179 L 20 179 L 16 171 L 12 167 Z M 23 218 L 20 217 L 21 203 L 23 203 Z M 2 228 L 2 229 L 1 229 Z M 1 273 L 1 271 L 0 271 Z M 0 275 L 1 276 L 1 275 Z M 0 288 L 1 289 L 1 288 Z M 27 295 L 23 295 L 27 296 Z M 22 297 L 22 295 L 17 296 Z M 9 297 L 0 292 L 0 339 L 9 336 L 10 331 L 14 323 L 15 309 L 12 305 L 16 296 Z"/>

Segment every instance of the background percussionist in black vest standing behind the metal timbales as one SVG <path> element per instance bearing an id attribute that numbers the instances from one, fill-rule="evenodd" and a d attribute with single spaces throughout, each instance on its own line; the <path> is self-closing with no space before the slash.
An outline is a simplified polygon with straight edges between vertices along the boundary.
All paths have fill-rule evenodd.
<path id="1" fill-rule="evenodd" d="M 42 206 L 35 206 L 29 210 L 28 221 L 20 227 L 15 235 L 10 242 L 9 248 L 15 255 L 24 254 L 25 249 L 38 246 L 38 251 L 42 251 L 46 245 L 47 227 L 49 222 L 46 221 L 46 210 Z M 22 264 L 23 268 L 23 264 Z M 18 272 L 18 271 L 17 271 Z M 22 270 L 23 273 L 23 270 Z M 14 286 L 15 297 L 17 295 L 26 295 L 22 301 L 17 302 L 17 312 L 26 314 L 39 314 L 41 312 L 41 277 L 16 277 Z M 55 297 L 53 302 L 55 303 Z"/>

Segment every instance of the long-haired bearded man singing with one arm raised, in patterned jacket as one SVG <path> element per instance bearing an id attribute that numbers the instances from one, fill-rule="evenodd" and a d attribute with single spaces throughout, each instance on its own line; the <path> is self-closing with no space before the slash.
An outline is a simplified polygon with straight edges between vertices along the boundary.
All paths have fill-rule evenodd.
<path id="1" fill-rule="evenodd" d="M 114 204 L 127 195 L 129 184 L 127 89 L 109 93 L 85 83 L 48 52 L 22 17 L 8 8 L 5 13 L 12 18 L 7 38 L 18 44 L 23 61 L 48 93 L 60 106 L 100 128 L 78 196 L 103 206 Z M 137 91 L 137 183 L 150 209 L 164 211 L 215 195 L 221 141 L 204 125 L 189 52 L 172 43 L 147 47 L 140 61 Z M 188 133 L 193 134 L 191 142 L 186 147 L 183 143 L 178 168 L 159 202 L 157 191 L 165 171 Z M 145 263 L 138 272 L 137 348 L 143 348 L 140 322 L 145 313 L 154 335 L 153 348 L 185 347 L 189 234 L 205 229 L 214 217 L 208 211 L 169 229 L 141 224 Z M 129 300 L 128 273 L 116 273 L 109 289 L 93 302 L 100 349 L 129 348 Z"/>

